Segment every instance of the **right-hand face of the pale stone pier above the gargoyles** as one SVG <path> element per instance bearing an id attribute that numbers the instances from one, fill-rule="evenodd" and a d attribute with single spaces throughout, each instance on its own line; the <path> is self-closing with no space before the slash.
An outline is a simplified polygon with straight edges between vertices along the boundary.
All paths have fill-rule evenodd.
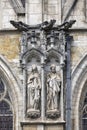
<path id="1" fill-rule="evenodd" d="M 44 20 L 56 19 L 57 24 L 61 23 L 61 1 L 45 0 L 43 5 Z"/>

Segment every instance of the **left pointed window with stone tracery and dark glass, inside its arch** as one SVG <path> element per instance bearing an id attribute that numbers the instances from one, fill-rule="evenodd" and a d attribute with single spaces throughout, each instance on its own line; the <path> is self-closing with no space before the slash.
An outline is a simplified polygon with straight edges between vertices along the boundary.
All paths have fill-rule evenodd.
<path id="1" fill-rule="evenodd" d="M 13 112 L 8 90 L 0 78 L 0 130 L 13 130 Z"/>

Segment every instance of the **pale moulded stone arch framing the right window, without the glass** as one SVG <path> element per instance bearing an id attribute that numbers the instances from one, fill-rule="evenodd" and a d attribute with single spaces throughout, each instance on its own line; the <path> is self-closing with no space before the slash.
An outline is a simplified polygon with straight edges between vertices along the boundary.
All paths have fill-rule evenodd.
<path id="1" fill-rule="evenodd" d="M 72 73 L 72 119 L 75 121 L 74 129 L 79 130 L 81 111 L 87 92 L 87 54 L 80 60 Z M 79 116 L 81 115 L 81 116 Z M 73 122 L 74 123 L 74 122 Z"/>

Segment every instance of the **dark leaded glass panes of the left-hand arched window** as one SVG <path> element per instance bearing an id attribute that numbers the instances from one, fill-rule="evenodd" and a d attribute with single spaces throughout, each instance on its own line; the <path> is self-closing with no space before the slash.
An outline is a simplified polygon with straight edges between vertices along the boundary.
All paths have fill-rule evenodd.
<path id="1" fill-rule="evenodd" d="M 6 91 L 6 90 L 5 90 Z M 0 93 L 4 92 L 4 84 L 0 81 Z M 0 130 L 13 130 L 13 113 L 7 98 L 0 101 Z"/>

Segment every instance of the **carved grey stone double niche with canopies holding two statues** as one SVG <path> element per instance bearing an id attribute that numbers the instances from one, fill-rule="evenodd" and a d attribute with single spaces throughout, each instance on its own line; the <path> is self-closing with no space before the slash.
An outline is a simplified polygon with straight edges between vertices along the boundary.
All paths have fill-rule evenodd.
<path id="1" fill-rule="evenodd" d="M 34 26 L 22 33 L 23 130 L 63 130 L 64 39 L 64 32 L 53 26 L 49 30 Z"/>

